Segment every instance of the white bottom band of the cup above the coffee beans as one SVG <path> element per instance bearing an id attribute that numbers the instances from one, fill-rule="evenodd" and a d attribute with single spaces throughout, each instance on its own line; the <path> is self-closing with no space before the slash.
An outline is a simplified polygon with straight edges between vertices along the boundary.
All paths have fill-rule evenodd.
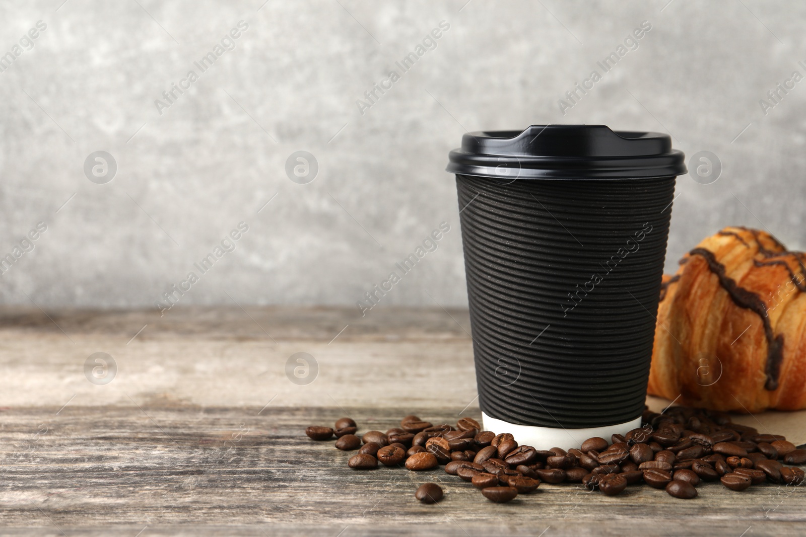
<path id="1" fill-rule="evenodd" d="M 491 418 L 484 414 L 484 412 L 481 413 L 481 419 L 485 431 L 492 431 L 496 434 L 509 432 L 515 437 L 518 445 L 529 445 L 538 450 L 550 448 L 563 448 L 565 450 L 580 448 L 580 444 L 592 436 L 600 436 L 609 442 L 610 436 L 614 434 L 623 435 L 632 429 L 641 427 L 640 416 L 636 419 L 625 421 L 624 423 L 617 423 L 616 425 L 584 429 L 518 425 L 517 423 L 505 422 L 503 419 Z"/>

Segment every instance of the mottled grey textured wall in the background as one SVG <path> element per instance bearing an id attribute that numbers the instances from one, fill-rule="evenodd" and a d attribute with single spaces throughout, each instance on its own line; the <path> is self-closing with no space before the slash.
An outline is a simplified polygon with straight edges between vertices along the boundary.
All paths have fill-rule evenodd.
<path id="1" fill-rule="evenodd" d="M 462 305 L 447 151 L 465 130 L 532 123 L 659 130 L 718 155 L 713 184 L 679 179 L 668 270 L 724 225 L 804 246 L 806 81 L 777 103 L 766 93 L 806 75 L 806 4 L 667 1 L 2 2 L 0 254 L 47 231 L 0 299 L 150 307 L 194 271 L 181 304 L 355 304 L 445 221 L 384 304 Z M 397 68 L 441 21 L 435 48 Z M 642 21 L 638 48 L 597 68 Z M 235 48 L 197 68 L 234 28 Z M 563 114 L 594 69 L 601 81 Z M 359 110 L 391 70 L 400 80 Z M 106 184 L 85 176 L 93 151 L 117 163 Z M 286 176 L 294 151 L 317 159 L 313 182 Z M 235 250 L 194 269 L 242 221 Z"/>

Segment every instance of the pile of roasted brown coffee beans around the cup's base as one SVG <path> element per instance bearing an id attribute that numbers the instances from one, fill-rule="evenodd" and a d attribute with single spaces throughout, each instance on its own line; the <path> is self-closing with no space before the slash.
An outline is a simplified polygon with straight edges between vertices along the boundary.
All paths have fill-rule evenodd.
<path id="1" fill-rule="evenodd" d="M 724 412 L 691 407 L 671 407 L 662 414 L 647 409 L 642 427 L 609 441 L 588 438 L 568 451 L 518 445 L 511 434 L 481 431 L 470 418 L 452 426 L 407 415 L 399 428 L 385 433 L 369 431 L 359 437 L 357 430 L 354 420 L 342 418 L 334 428 L 309 427 L 305 434 L 313 440 L 336 436 L 336 448 L 357 449 L 347 462 L 352 469 L 375 469 L 380 462 L 419 472 L 444 465 L 447 473 L 470 482 L 492 502 L 509 502 L 541 482 L 580 483 L 609 496 L 645 483 L 690 499 L 697 497 L 702 481 L 721 481 L 731 490 L 764 482 L 800 485 L 804 470 L 791 465 L 806 463 L 806 449 L 783 436 L 732 423 Z M 438 502 L 442 489 L 425 483 L 415 498 Z"/>

